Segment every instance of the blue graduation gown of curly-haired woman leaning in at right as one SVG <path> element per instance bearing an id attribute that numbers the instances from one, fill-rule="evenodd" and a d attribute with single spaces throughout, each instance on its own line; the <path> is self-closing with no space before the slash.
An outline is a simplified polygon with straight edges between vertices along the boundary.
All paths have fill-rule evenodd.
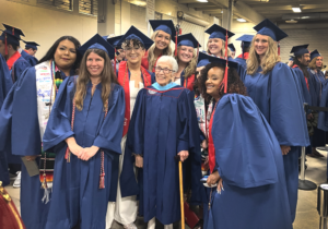
<path id="1" fill-rule="evenodd" d="M 215 229 L 292 229 L 280 144 L 251 98 L 218 103 L 212 136 L 224 191 L 213 192 Z"/>

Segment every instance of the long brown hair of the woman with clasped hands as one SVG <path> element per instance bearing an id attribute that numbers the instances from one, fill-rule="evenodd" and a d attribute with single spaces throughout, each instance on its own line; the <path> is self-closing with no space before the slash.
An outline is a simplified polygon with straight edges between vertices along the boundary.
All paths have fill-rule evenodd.
<path id="1" fill-rule="evenodd" d="M 110 59 L 104 50 L 101 49 L 87 49 L 82 58 L 80 74 L 77 82 L 77 92 L 74 95 L 75 106 L 78 110 L 83 109 L 83 101 L 86 95 L 86 85 L 90 82 L 90 73 L 86 69 L 86 60 L 91 52 L 94 52 L 102 57 L 104 62 L 104 70 L 101 74 L 102 79 L 102 100 L 104 104 L 104 111 L 108 109 L 108 97 L 110 95 L 112 83 L 117 83 L 116 76 L 114 74 L 114 70 L 110 63 Z"/>

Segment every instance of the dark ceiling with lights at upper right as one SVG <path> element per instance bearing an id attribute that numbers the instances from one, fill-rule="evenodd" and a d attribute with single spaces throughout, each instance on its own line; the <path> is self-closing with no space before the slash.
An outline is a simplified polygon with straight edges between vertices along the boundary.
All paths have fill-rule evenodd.
<path id="1" fill-rule="evenodd" d="M 201 0 L 200 0 L 201 1 Z M 227 8 L 229 0 L 178 0 L 197 11 L 202 11 L 211 16 L 222 17 L 222 12 Z M 236 4 L 249 7 L 263 17 L 270 19 L 278 24 L 293 23 L 321 23 L 328 22 L 328 0 L 234 0 Z M 301 13 L 293 12 L 292 8 L 301 8 Z M 243 15 L 235 12 L 235 17 Z M 245 17 L 247 20 L 247 17 Z M 286 22 L 288 21 L 288 22 Z"/>

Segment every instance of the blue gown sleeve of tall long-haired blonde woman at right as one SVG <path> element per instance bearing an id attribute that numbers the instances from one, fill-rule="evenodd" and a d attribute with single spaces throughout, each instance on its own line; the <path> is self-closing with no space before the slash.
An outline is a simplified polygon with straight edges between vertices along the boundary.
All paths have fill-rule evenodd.
<path id="1" fill-rule="evenodd" d="M 278 142 L 286 146 L 309 145 L 304 108 L 291 69 L 284 63 L 276 64 L 269 84 L 268 121 Z"/>

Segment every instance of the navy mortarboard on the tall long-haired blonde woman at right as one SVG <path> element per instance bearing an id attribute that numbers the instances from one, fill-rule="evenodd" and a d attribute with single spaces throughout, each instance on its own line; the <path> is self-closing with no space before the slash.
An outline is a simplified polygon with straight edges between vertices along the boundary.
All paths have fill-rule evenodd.
<path id="1" fill-rule="evenodd" d="M 274 25 L 268 19 L 263 20 L 261 23 L 256 25 L 254 29 L 257 31 L 257 34 L 267 35 L 276 41 L 279 41 L 288 37 L 288 35 L 283 31 L 281 31 L 277 25 Z"/>

